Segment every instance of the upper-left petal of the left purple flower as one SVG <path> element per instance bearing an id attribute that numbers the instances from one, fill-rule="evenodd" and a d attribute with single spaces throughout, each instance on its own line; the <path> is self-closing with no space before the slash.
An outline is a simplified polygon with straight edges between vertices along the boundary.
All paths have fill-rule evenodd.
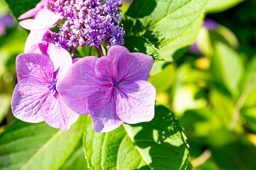
<path id="1" fill-rule="evenodd" d="M 27 53 L 17 56 L 16 70 L 18 82 L 28 77 L 34 77 L 47 84 L 54 72 L 54 65 L 46 55 Z"/>

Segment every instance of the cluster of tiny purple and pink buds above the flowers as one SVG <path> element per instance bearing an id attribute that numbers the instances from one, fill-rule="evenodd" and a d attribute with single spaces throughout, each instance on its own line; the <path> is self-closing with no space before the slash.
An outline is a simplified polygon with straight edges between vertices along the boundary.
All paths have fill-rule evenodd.
<path id="1" fill-rule="evenodd" d="M 100 48 L 124 44 L 124 28 L 121 20 L 121 0 L 54 0 L 49 9 L 62 13 L 65 22 L 52 33 L 52 42 L 66 50 L 70 47 L 94 46 Z"/>

